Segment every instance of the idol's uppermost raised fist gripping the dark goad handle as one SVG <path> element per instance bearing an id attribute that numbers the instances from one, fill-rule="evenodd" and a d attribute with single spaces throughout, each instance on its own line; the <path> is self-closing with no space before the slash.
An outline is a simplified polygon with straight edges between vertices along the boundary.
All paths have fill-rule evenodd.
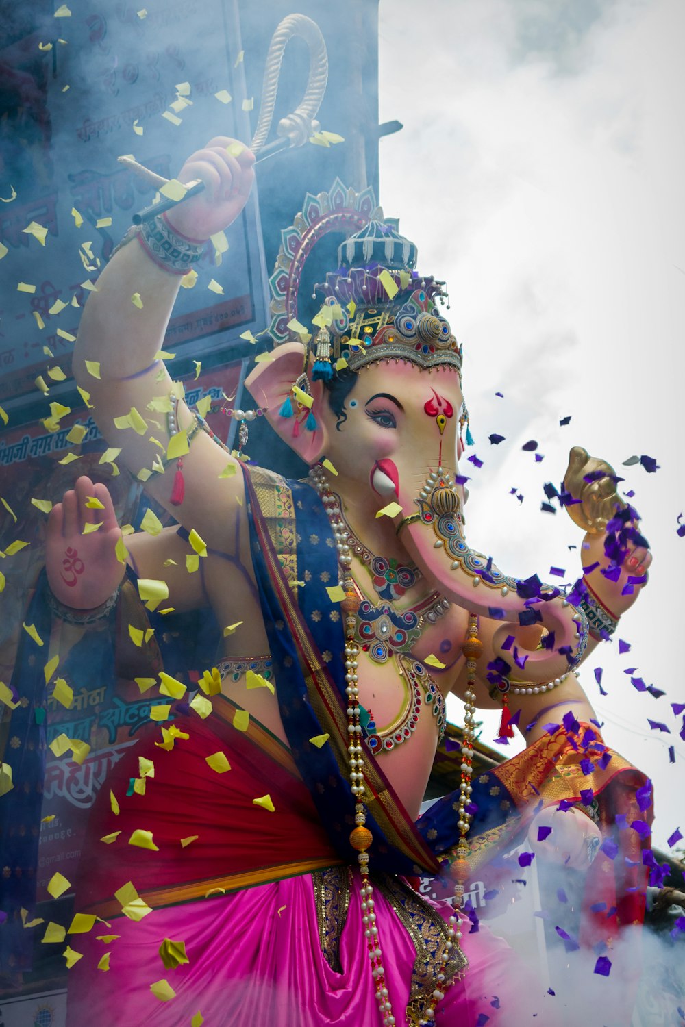
<path id="1" fill-rule="evenodd" d="M 201 179 L 205 189 L 166 215 L 169 224 L 191 239 L 208 239 L 228 228 L 248 202 L 255 181 L 255 155 L 228 136 L 216 136 L 186 160 L 179 182 Z"/>

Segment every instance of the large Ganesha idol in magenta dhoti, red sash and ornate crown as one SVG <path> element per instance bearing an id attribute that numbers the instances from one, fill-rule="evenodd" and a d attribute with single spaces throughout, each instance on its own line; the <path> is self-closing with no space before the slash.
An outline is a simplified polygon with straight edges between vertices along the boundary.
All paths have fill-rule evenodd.
<path id="1" fill-rule="evenodd" d="M 227 452 L 156 354 L 183 276 L 242 210 L 252 164 L 224 138 L 186 162 L 181 181 L 205 191 L 118 249 L 76 346 L 108 445 L 180 527 L 126 536 L 123 579 L 107 489 L 79 479 L 49 521 L 52 615 L 93 622 L 124 588 L 163 581 L 165 605 L 211 606 L 226 630 L 192 703 L 188 681 L 155 684 L 166 719 L 139 732 L 93 806 L 76 909 L 117 940 L 99 973 L 102 943 L 83 936 L 69 1023 L 172 1027 L 200 1013 L 213 1025 L 549 1027 L 562 1020 L 548 982 L 471 929 L 461 900 L 528 837 L 539 861 L 582 872 L 583 909 L 605 902 L 583 944 L 641 918 L 646 842 L 615 816 L 644 778 L 604 745 L 576 670 L 646 580 L 646 541 L 611 467 L 574 449 L 564 501 L 586 534 L 572 591 L 509 576 L 469 546 L 462 350 L 443 283 L 417 272 L 415 245 L 371 190 L 340 183 L 282 234 L 272 348 L 246 379 L 255 409 L 232 412 L 241 450 L 266 418 L 309 476 Z M 303 325 L 303 267 L 329 231 L 344 236 L 339 266 Z M 115 427 L 125 415 L 130 427 Z M 87 523 L 102 529 L 83 534 Z M 68 548 L 83 568 L 75 585 L 61 574 Z M 200 573 L 186 569 L 193 555 Z M 419 817 L 450 692 L 465 703 L 461 783 Z M 527 748 L 475 778 L 483 707 L 502 710 L 502 734 L 525 728 Z M 128 844 L 141 831 L 150 844 Z M 607 839 L 615 865 L 598 853 Z M 411 886 L 441 874 L 452 903 Z"/>

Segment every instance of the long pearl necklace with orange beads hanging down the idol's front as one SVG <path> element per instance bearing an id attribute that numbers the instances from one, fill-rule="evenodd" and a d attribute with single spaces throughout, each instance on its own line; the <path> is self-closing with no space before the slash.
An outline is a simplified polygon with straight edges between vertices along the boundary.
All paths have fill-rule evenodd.
<path id="1" fill-rule="evenodd" d="M 324 470 L 319 464 L 312 468 L 311 478 L 314 482 L 316 491 L 319 496 L 321 496 L 321 500 L 324 500 L 325 493 L 327 493 L 330 497 L 331 490 L 328 487 Z M 330 506 L 330 501 L 329 503 L 324 503 L 327 514 L 329 514 Z M 354 805 L 355 827 L 350 833 L 349 840 L 350 845 L 357 852 L 357 862 L 359 864 L 359 874 L 361 876 L 361 888 L 359 889 L 359 896 L 361 898 L 361 919 L 365 928 L 364 934 L 367 941 L 369 960 L 371 962 L 371 973 L 376 982 L 376 1000 L 378 1001 L 378 1009 L 381 1014 L 384 1027 L 394 1027 L 396 1021 L 392 1014 L 392 1003 L 390 1002 L 387 983 L 385 981 L 385 967 L 383 966 L 380 938 L 378 935 L 378 926 L 376 924 L 376 914 L 374 913 L 374 886 L 369 878 L 368 850 L 373 842 L 373 835 L 369 828 L 366 827 L 366 785 L 364 779 L 364 750 L 361 748 L 363 728 L 359 722 L 359 689 L 357 675 L 359 646 L 355 638 L 356 612 L 359 608 L 360 600 L 354 589 L 354 581 L 350 574 L 352 555 L 347 541 L 349 536 L 345 534 L 344 529 L 341 531 L 336 524 L 334 524 L 330 514 L 329 521 L 336 539 L 340 577 L 342 578 L 343 589 L 345 592 L 345 598 L 342 600 L 340 605 L 343 611 L 345 624 L 345 693 L 347 695 L 348 702 L 347 734 L 349 738 L 347 752 L 349 753 L 349 777 L 351 782 L 350 791 L 356 800 Z M 473 691 L 473 686 L 475 684 L 475 660 L 483 653 L 483 643 L 478 638 L 478 617 L 474 614 L 469 614 L 468 616 L 468 633 L 466 642 L 464 643 L 463 652 L 466 656 L 467 670 L 467 690 L 465 692 L 466 713 L 463 728 L 464 743 L 461 750 L 461 784 L 459 786 L 459 821 L 457 825 L 459 829 L 459 842 L 457 844 L 457 860 L 453 865 L 453 873 L 455 873 L 455 879 L 457 881 L 454 888 L 455 904 L 458 906 L 461 906 L 463 901 L 464 884 L 468 879 L 470 869 L 466 859 L 468 855 L 466 835 L 470 827 L 471 814 L 466 811 L 466 804 L 470 801 L 471 794 L 470 779 L 474 731 L 473 714 L 475 713 L 475 708 L 473 706 L 473 700 L 475 699 L 475 692 Z M 440 956 L 441 967 L 439 974 L 436 975 L 437 984 L 432 992 L 430 1001 L 428 1002 L 425 1018 L 419 1021 L 419 1027 L 432 1027 L 435 1022 L 435 1007 L 437 1002 L 445 997 L 445 992 L 443 991 L 446 984 L 445 968 L 450 959 L 450 953 L 454 948 L 455 940 L 458 944 L 458 941 L 461 938 L 459 919 L 454 914 L 450 916 L 447 936 L 448 940 L 445 943 L 445 947 Z"/>

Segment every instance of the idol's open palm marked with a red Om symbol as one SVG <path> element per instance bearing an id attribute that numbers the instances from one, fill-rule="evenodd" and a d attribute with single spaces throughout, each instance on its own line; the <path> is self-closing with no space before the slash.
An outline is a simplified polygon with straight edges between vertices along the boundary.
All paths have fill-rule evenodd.
<path id="1" fill-rule="evenodd" d="M 88 499 L 100 500 L 103 509 L 88 507 Z M 87 534 L 88 524 L 101 524 Z M 121 529 L 106 486 L 79 478 L 73 489 L 55 503 L 47 519 L 45 570 L 52 595 L 65 606 L 91 610 L 104 603 L 124 575 L 115 547 Z"/>

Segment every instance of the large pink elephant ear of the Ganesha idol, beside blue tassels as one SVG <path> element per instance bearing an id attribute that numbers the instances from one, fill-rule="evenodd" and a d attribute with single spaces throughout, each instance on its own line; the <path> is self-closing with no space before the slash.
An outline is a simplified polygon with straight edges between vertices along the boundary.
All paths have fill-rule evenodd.
<path id="1" fill-rule="evenodd" d="M 286 416 L 280 411 L 290 396 L 294 408 L 292 389 L 296 379 L 302 374 L 304 347 L 299 342 L 287 342 L 278 346 L 270 360 L 260 362 L 254 371 L 245 378 L 245 385 L 256 402 L 266 408 L 266 419 L 305 463 L 315 463 L 326 452 L 329 433 L 320 416 L 322 404 L 327 402 L 324 383 L 311 383 L 312 406 L 311 414 L 316 422 L 312 429 L 307 427 L 311 417 L 303 411 L 300 416 L 295 412 Z"/>

